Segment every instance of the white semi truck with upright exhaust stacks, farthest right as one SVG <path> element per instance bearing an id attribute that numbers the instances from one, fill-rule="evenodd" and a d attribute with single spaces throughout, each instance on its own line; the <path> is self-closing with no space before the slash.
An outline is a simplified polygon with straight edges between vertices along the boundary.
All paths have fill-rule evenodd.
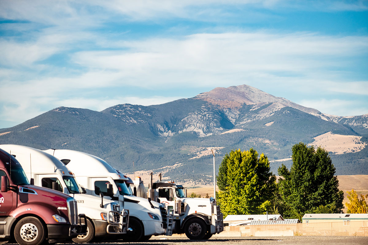
<path id="1" fill-rule="evenodd" d="M 134 181 L 142 184 L 140 179 Z M 138 188 L 138 186 L 136 186 Z M 139 192 L 137 192 L 139 193 Z M 174 210 L 173 233 L 185 233 L 189 239 L 209 239 L 224 230 L 223 215 L 214 198 L 187 198 L 186 189 L 173 181 L 159 180 L 148 187 L 148 198 L 164 203 L 167 210 Z"/>

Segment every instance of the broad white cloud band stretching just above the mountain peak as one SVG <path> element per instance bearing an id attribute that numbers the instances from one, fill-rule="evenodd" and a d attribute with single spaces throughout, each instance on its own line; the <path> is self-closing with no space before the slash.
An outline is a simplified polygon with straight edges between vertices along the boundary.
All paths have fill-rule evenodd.
<path id="1" fill-rule="evenodd" d="M 72 61 L 89 71 L 109 71 L 107 76 L 114 77 L 114 84 L 134 83 L 141 87 L 151 84 L 196 86 L 199 82 L 209 85 L 223 84 L 223 81 L 242 84 L 262 76 L 273 77 L 274 81 L 315 80 L 319 83 L 335 78 L 341 81 L 344 73 L 329 71 L 330 67 L 344 68 L 349 57 L 367 53 L 368 37 L 206 33 L 180 40 L 156 38 L 121 45 L 121 51 L 78 52 Z"/>

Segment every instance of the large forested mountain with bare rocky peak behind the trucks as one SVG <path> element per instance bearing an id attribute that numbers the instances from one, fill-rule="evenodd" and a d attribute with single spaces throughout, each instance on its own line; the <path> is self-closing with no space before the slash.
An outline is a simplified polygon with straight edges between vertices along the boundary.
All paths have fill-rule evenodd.
<path id="1" fill-rule="evenodd" d="M 121 104 L 100 112 L 59 107 L 1 129 L 0 143 L 76 149 L 125 173 L 154 170 L 205 184 L 212 176 L 211 147 L 216 165 L 231 149 L 253 147 L 277 174 L 281 163 L 290 166 L 291 147 L 300 141 L 331 151 L 336 174 L 368 174 L 367 122 L 368 115 L 326 115 L 240 85 L 161 105 Z"/>

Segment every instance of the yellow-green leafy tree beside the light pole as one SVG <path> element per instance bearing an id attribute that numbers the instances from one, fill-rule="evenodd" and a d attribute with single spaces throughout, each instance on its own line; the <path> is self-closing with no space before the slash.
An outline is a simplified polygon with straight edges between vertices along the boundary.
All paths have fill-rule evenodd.
<path id="1" fill-rule="evenodd" d="M 270 209 L 276 177 L 263 153 L 231 150 L 220 165 L 217 186 L 216 201 L 225 216 L 262 214 Z"/>

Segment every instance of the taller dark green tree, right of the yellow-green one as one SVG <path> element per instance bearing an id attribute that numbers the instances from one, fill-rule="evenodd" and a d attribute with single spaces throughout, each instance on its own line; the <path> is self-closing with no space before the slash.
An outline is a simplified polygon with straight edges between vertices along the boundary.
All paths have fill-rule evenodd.
<path id="1" fill-rule="evenodd" d="M 282 178 L 278 188 L 280 213 L 284 218 L 301 219 L 305 213 L 339 213 L 343 208 L 343 191 L 328 152 L 318 147 L 299 143 L 292 148 L 293 164 L 278 169 Z"/>

